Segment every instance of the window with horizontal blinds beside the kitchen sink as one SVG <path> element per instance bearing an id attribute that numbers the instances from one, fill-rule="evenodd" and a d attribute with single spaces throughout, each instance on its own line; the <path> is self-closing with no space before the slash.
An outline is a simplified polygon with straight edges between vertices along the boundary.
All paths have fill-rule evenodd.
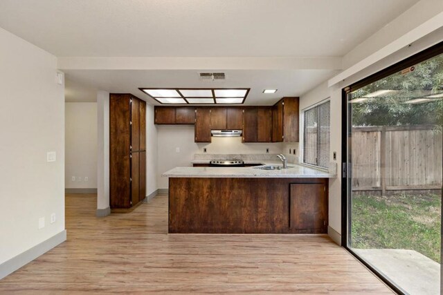
<path id="1" fill-rule="evenodd" d="M 329 167 L 329 134 L 331 103 L 327 101 L 305 111 L 303 129 L 303 162 Z"/>

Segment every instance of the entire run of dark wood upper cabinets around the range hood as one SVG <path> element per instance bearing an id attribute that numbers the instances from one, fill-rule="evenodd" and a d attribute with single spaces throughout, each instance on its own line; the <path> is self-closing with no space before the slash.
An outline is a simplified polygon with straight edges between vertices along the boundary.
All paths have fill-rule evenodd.
<path id="1" fill-rule="evenodd" d="M 155 124 L 195 124 L 195 142 L 210 142 L 211 130 L 243 130 L 243 142 L 298 142 L 298 97 L 274 106 L 155 106 Z M 199 115 L 197 111 L 199 110 Z"/>

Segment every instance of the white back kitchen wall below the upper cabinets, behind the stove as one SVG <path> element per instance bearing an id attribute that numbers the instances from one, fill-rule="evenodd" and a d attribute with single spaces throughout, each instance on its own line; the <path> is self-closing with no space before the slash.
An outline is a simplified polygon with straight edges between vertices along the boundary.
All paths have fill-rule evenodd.
<path id="1" fill-rule="evenodd" d="M 157 125 L 159 169 L 157 184 L 159 189 L 168 189 L 168 178 L 161 174 L 176 166 L 192 166 L 195 153 L 281 153 L 282 143 L 242 143 L 241 137 L 212 138 L 212 142 L 194 142 L 194 126 Z M 149 144 L 149 142 L 148 142 Z M 180 152 L 177 153 L 177 147 Z"/>

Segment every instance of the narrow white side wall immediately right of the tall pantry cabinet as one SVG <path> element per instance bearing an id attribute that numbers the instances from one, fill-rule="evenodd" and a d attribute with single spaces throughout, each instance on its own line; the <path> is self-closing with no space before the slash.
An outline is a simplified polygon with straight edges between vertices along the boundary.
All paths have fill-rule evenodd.
<path id="1" fill-rule="evenodd" d="M 154 106 L 146 104 L 146 196 L 156 191 L 158 165 L 157 126 L 154 124 Z"/>

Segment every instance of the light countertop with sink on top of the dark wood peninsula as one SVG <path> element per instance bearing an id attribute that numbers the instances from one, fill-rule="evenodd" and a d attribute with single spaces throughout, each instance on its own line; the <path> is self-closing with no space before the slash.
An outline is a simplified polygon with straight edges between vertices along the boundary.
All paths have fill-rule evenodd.
<path id="1" fill-rule="evenodd" d="M 192 163 L 208 163 L 200 160 Z M 262 163 L 265 165 L 280 165 L 280 161 L 248 160 L 248 163 Z M 328 172 L 312 169 L 307 166 L 288 163 L 290 168 L 282 170 L 262 170 L 253 167 L 175 167 L 162 174 L 169 178 L 335 178 Z"/>

